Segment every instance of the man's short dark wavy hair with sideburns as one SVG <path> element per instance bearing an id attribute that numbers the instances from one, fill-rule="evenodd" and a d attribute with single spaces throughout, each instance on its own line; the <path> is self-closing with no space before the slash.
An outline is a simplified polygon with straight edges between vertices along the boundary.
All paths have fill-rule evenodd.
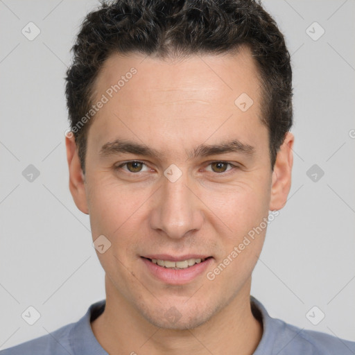
<path id="1" fill-rule="evenodd" d="M 262 121 L 269 132 L 271 167 L 293 122 L 292 70 L 284 36 L 256 0 L 100 1 L 81 24 L 67 70 L 71 130 L 92 106 L 94 83 L 113 53 L 157 58 L 232 52 L 247 45 L 263 89 Z M 87 132 L 92 119 L 73 130 L 85 173 Z"/>

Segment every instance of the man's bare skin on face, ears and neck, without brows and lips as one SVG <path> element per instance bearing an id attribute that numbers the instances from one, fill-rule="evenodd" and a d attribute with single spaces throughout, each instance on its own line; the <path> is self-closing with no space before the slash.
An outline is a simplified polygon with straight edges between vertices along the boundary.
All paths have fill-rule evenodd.
<path id="1" fill-rule="evenodd" d="M 248 48 L 184 60 L 114 54 L 98 75 L 96 98 L 131 67 L 135 76 L 94 116 L 85 176 L 75 141 L 66 138 L 73 200 L 89 214 L 93 240 L 103 234 L 111 243 L 97 252 L 105 270 L 106 308 L 91 324 L 94 335 L 110 354 L 252 354 L 263 327 L 250 309 L 251 275 L 266 229 L 213 281 L 206 272 L 269 210 L 286 203 L 293 135 L 286 135 L 272 171 L 258 71 Z M 234 104 L 242 93 L 254 101 L 246 112 Z M 162 155 L 101 157 L 101 146 L 117 138 Z M 199 144 L 229 139 L 253 146 L 254 153 L 187 155 Z M 146 165 L 141 171 L 127 165 L 114 169 L 133 160 Z M 237 167 L 211 164 L 218 161 Z M 175 182 L 164 176 L 171 164 L 182 172 Z M 142 262 L 141 256 L 155 253 L 213 259 L 206 272 L 175 285 L 157 280 Z M 176 322 L 164 316 L 171 307 L 181 315 Z"/>

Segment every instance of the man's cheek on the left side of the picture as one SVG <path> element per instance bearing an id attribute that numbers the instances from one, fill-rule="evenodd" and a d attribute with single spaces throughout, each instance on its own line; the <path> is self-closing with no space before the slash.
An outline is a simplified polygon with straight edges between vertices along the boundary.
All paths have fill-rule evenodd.
<path id="1" fill-rule="evenodd" d="M 109 180 L 102 179 L 90 186 L 93 241 L 101 235 L 110 241 L 110 248 L 102 254 L 96 251 L 96 254 L 107 275 L 126 288 L 134 281 L 127 270 L 132 262 L 132 248 L 137 243 L 135 234 L 141 218 L 139 206 L 143 202 L 144 196 L 139 195 L 139 191 L 127 191 Z"/>

